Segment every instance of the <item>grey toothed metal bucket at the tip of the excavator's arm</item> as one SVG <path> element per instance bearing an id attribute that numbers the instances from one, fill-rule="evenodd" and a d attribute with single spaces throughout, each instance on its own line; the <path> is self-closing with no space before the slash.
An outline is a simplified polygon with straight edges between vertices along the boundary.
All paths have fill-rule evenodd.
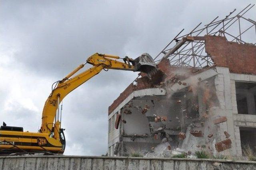
<path id="1" fill-rule="evenodd" d="M 134 60 L 136 71 L 151 74 L 156 71 L 156 63 L 148 53 L 143 53 Z"/>

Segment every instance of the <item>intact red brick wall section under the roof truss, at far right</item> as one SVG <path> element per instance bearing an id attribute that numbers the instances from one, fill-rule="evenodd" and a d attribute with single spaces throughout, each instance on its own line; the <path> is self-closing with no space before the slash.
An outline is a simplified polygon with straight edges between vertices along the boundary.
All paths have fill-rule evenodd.
<path id="1" fill-rule="evenodd" d="M 256 75 L 256 46 L 228 42 L 221 36 L 206 35 L 205 49 L 216 66 L 228 67 L 232 73 Z"/>

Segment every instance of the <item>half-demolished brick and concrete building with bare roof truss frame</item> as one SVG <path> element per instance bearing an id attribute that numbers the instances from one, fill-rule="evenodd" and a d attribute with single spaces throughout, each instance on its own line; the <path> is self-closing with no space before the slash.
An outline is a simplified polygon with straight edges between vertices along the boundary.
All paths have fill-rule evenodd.
<path id="1" fill-rule="evenodd" d="M 244 16 L 253 6 L 182 30 L 154 58 L 157 72 L 140 73 L 108 108 L 108 156 L 255 148 L 256 22 Z"/>

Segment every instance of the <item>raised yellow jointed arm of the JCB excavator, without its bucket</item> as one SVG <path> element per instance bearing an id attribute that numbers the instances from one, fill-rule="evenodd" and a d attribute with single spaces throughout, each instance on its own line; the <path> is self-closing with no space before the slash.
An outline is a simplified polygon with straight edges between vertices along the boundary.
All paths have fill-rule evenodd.
<path id="1" fill-rule="evenodd" d="M 95 53 L 86 61 L 86 63 L 93 65 L 92 68 L 74 76 L 73 78 L 70 78 L 76 72 L 78 72 L 78 70 L 84 67 L 85 64 L 81 64 L 65 78 L 60 80 L 44 104 L 44 109 L 42 112 L 42 126 L 40 132 L 48 133 L 49 135 L 54 132 L 54 138 L 57 140 L 59 139 L 60 121 L 58 107 L 60 102 L 67 94 L 72 92 L 74 89 L 76 89 L 78 86 L 93 76 L 97 75 L 102 69 L 139 71 L 140 68 L 142 68 L 141 64 L 139 64 L 139 60 L 135 62 L 133 59 L 128 57 L 124 58 L 124 62 L 113 60 L 119 58 L 120 57 L 118 56 Z M 143 66 L 145 66 L 145 63 Z"/>

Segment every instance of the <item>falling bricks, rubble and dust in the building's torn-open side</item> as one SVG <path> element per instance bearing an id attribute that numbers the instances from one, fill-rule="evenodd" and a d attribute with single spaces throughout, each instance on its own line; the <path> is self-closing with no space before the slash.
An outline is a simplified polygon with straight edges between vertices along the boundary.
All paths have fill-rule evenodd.
<path id="1" fill-rule="evenodd" d="M 232 147 L 230 134 L 220 130 L 227 117 L 218 115 L 220 102 L 215 79 L 193 78 L 198 72 L 200 70 L 162 73 L 162 78 L 150 86 L 165 89 L 165 98 L 134 98 L 121 109 L 124 113 L 122 126 L 128 127 L 128 121 L 143 120 L 139 123 L 142 128 L 137 129 L 138 134 L 126 134 L 122 128 L 122 137 L 137 142 L 134 148 L 145 141 L 147 145 L 140 146 L 145 157 L 171 157 L 181 153 L 193 157 L 198 150 L 216 155 Z M 192 81 L 187 81 L 188 78 Z M 175 92 L 172 91 L 174 87 L 178 89 Z M 132 124 L 130 126 L 132 129 Z M 226 138 L 220 138 L 220 133 Z M 129 148 L 124 146 L 123 150 L 126 156 Z"/>

